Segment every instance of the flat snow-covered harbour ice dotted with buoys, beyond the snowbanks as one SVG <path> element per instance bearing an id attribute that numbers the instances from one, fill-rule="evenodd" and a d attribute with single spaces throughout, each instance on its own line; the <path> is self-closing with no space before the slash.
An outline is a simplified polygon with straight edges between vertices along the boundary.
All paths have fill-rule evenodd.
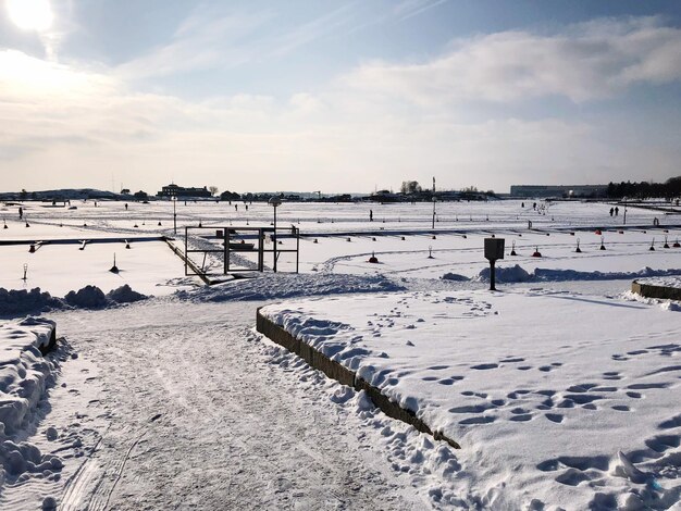
<path id="1" fill-rule="evenodd" d="M 25 202 L 26 222 L 20 222 L 17 207 L 0 208 L 8 229 L 0 228 L 0 242 L 3 240 L 50 240 L 50 239 L 96 239 L 102 237 L 133 238 L 135 236 L 173 236 L 172 202 L 153 201 L 148 204 L 128 202 L 73 201 L 73 208 L 53 208 L 49 203 Z M 574 202 L 538 202 L 537 211 L 525 201 L 491 202 L 443 202 L 436 204 L 436 230 L 430 230 L 432 204 L 375 204 L 375 203 L 285 203 L 278 208 L 277 226 L 285 229 L 295 225 L 301 232 L 300 271 L 336 272 L 344 274 L 383 273 L 419 278 L 439 278 L 446 273 L 475 277 L 486 266 L 482 256 L 482 239 L 495 234 L 506 238 L 507 257 L 498 266 L 520 264 L 532 273 L 534 269 L 598 271 L 608 273 L 617 266 L 619 271 L 637 272 L 644 267 L 674 269 L 679 264 L 678 250 L 664 249 L 665 236 L 671 247 L 681 237 L 678 227 L 653 228 L 653 220 L 660 217 L 658 212 L 629 208 L 627 226 L 623 215 L 608 215 L 609 204 Z M 234 209 L 238 205 L 238 211 Z M 183 201 L 177 208 L 177 245 L 184 245 L 184 226 L 215 228 L 248 224 L 270 226 L 272 208 L 265 203 L 215 203 Z M 374 212 L 374 222 L 369 222 L 369 210 Z M 670 217 L 671 219 L 671 217 Z M 384 222 L 385 221 L 385 222 Z M 533 229 L 528 229 L 528 221 Z M 667 219 L 661 217 L 665 224 Z M 159 226 L 158 224 L 161 223 Z M 60 227 L 60 225 L 62 225 Z M 632 225 L 641 227 L 629 228 Z M 626 228 L 627 227 L 627 228 Z M 570 235 L 569 229 L 590 228 Z M 603 235 L 596 235 L 600 228 Z M 459 232 L 451 234 L 451 229 Z M 665 230 L 668 230 L 667 233 Z M 574 232 L 574 230 L 572 230 Z M 621 234 L 620 234 L 621 232 Z M 203 233 L 210 233 L 210 229 Z M 345 234 L 349 233 L 349 234 Z M 364 233 L 357 235 L 357 233 Z M 391 234 L 393 233 L 393 234 Z M 198 233 L 197 233 L 198 234 Z M 548 234 L 549 236 L 546 236 Z M 605 251 L 598 250 L 604 238 Z M 347 241 L 347 239 L 350 241 Z M 404 238 L 404 239 L 403 239 Z M 575 253 L 580 240 L 581 253 Z M 290 249 L 295 240 L 280 233 L 282 245 Z M 317 242 L 314 242 L 317 240 Z M 216 240 L 193 238 L 193 248 L 219 248 Z M 511 257 L 513 248 L 518 256 Z M 656 247 L 649 251 L 651 245 Z M 170 294 L 181 282 L 177 277 L 183 263 L 160 242 L 132 241 L 133 251 L 124 250 L 123 244 L 92 244 L 85 250 L 74 252 L 76 246 L 45 245 L 35 253 L 28 253 L 26 246 L 1 247 L 8 264 L 0 269 L 0 287 L 21 289 L 23 265 L 27 263 L 27 287 L 40 287 L 53 295 L 63 295 L 85 285 L 96 285 L 102 289 L 119 287 L 127 283 L 135 290 L 146 295 Z M 272 248 L 269 244 L 267 248 Z M 432 249 L 432 251 L 429 251 Z M 542 258 L 531 254 L 537 249 Z M 168 253 L 163 253 L 168 252 Z M 113 254 L 124 271 L 117 276 L 107 273 L 113 264 Z M 379 264 L 368 262 L 372 253 Z M 429 259 L 429 254 L 433 259 Z M 203 265 L 200 253 L 191 254 L 193 260 Z M 256 254 L 233 253 L 232 264 L 252 267 Z M 63 269 L 63 277 L 54 272 L 54 265 Z M 272 254 L 265 254 L 265 264 L 272 266 Z M 222 257 L 209 254 L 206 266 L 222 270 Z M 280 271 L 295 270 L 295 256 L 282 254 Z M 74 282 L 77 276 L 77 282 Z M 199 283 L 186 279 L 185 283 Z"/>

